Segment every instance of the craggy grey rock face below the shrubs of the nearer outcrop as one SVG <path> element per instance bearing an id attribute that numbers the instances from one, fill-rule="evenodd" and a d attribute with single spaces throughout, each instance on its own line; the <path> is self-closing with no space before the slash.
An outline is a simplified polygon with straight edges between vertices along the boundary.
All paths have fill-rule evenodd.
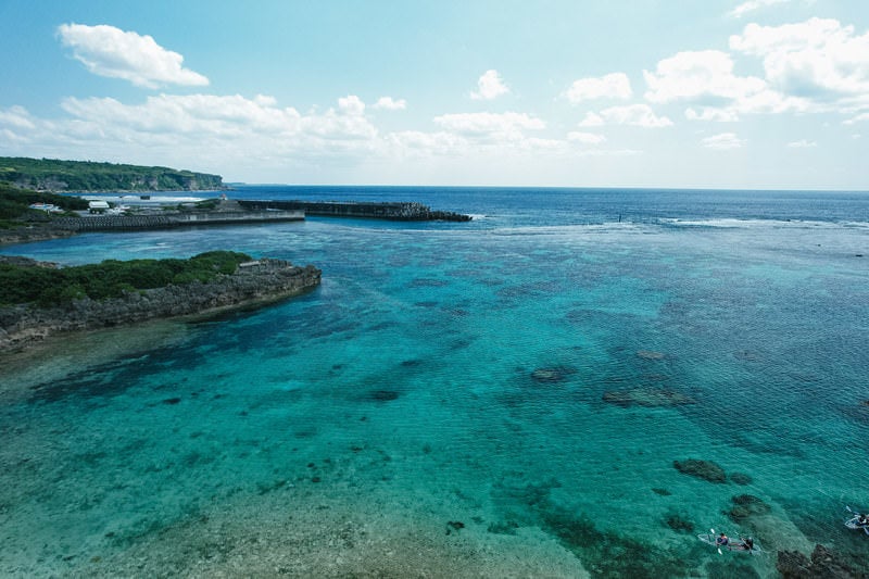
<path id="1" fill-rule="evenodd" d="M 113 300 L 85 298 L 65 307 L 0 307 L 0 351 L 20 349 L 59 332 L 274 301 L 318 286 L 320 274 L 313 265 L 299 267 L 280 260 L 260 260 L 243 264 L 235 274 L 219 276 L 207 284 L 193 282 L 126 292 Z"/>

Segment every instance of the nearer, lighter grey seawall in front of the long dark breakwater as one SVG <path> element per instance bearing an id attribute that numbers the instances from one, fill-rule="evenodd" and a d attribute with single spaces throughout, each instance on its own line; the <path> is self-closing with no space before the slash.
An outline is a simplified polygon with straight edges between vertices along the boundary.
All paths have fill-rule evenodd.
<path id="1" fill-rule="evenodd" d="M 238 211 L 166 213 L 143 215 L 88 215 L 60 217 L 52 224 L 70 231 L 124 231 L 134 229 L 160 229 L 189 225 L 236 225 L 248 223 L 276 223 L 304 221 L 303 211 Z"/>

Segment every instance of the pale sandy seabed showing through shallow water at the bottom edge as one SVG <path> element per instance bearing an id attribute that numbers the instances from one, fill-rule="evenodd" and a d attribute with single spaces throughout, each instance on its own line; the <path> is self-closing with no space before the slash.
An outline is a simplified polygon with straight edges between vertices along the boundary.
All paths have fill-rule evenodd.
<path id="1" fill-rule="evenodd" d="M 93 555 L 75 577 L 589 577 L 537 528 L 494 534 L 446 505 L 288 486 Z M 320 490 L 322 489 L 322 490 Z M 235 498 L 234 498 L 235 499 Z"/>

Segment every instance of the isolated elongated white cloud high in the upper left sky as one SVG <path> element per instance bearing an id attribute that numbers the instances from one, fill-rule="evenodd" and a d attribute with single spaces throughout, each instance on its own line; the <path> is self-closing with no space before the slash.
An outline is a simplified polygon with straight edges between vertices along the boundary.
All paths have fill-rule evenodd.
<path id="1" fill-rule="evenodd" d="M 99 76 L 123 78 L 136 86 L 203 86 L 209 79 L 185 68 L 184 56 L 166 50 L 150 36 L 101 24 L 62 24 L 58 35 L 73 56 Z"/>

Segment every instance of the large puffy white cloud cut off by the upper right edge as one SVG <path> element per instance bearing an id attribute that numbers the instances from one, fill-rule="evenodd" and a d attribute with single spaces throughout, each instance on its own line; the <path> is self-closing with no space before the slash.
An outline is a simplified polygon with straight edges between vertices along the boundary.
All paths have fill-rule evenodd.
<path id="1" fill-rule="evenodd" d="M 869 33 L 836 20 L 809 18 L 797 24 L 748 24 L 730 37 L 730 48 L 759 56 L 768 83 L 776 89 L 813 101 L 816 106 L 856 98 L 869 106 Z"/>

